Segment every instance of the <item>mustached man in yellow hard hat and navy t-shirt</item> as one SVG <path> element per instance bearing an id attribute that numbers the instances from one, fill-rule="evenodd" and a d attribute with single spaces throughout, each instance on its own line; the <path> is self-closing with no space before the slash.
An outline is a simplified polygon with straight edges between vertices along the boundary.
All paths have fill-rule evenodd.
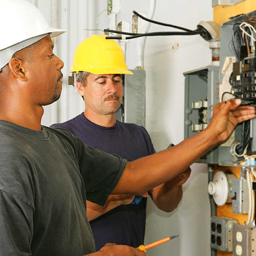
<path id="1" fill-rule="evenodd" d="M 121 74 L 133 74 L 127 70 L 118 43 L 106 40 L 105 35 L 90 36 L 76 48 L 71 71 L 77 73 L 77 89 L 84 99 L 85 111 L 51 127 L 65 128 L 85 144 L 128 161 L 155 153 L 144 127 L 116 120 L 116 111 L 122 103 Z M 171 212 L 177 207 L 182 198 L 182 184 L 190 172 L 189 168 L 151 191 L 159 209 Z M 87 201 L 87 218 L 96 250 L 110 242 L 131 247 L 144 244 L 147 198 L 137 205 L 131 204 L 133 199 L 134 195 L 111 195 L 104 207 Z"/>

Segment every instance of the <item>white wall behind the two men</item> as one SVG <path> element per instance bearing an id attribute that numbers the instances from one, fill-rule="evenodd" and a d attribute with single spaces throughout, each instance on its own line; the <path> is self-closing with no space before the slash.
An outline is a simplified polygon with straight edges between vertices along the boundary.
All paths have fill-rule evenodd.
<path id="1" fill-rule="evenodd" d="M 189 29 L 196 29 L 201 20 L 212 20 L 211 0 L 157 0 L 154 20 L 171 23 Z M 109 27 L 107 12 L 96 16 L 107 8 L 107 0 L 61 0 L 59 3 L 59 27 L 69 32 L 58 39 L 58 56 L 63 59 L 63 92 L 56 103 L 57 112 L 52 116 L 52 106 L 45 108 L 43 124 L 64 122 L 84 110 L 84 103 L 76 88 L 67 85 L 76 45 L 94 33 L 84 29 L 105 29 Z M 117 23 L 128 20 L 132 11 L 149 12 L 150 0 L 121 0 L 121 12 Z M 50 23 L 50 0 L 36 0 Z M 80 18 L 79 18 L 80 17 Z M 174 31 L 172 28 L 152 24 L 149 32 Z M 178 43 L 177 51 L 172 46 Z M 126 64 L 129 69 L 137 66 L 136 40 L 127 44 Z M 161 36 L 146 39 L 146 128 L 151 135 L 156 151 L 167 148 L 169 143 L 183 140 L 183 72 L 204 67 L 211 62 L 209 44 L 199 35 Z M 180 159 L 182 161 L 182 156 Z M 148 256 L 206 256 L 210 255 L 209 200 L 207 194 L 207 167 L 192 166 L 192 175 L 184 186 L 184 195 L 178 209 L 172 214 L 160 212 L 148 200 L 145 244 L 180 234 L 180 237 L 147 251 Z"/>

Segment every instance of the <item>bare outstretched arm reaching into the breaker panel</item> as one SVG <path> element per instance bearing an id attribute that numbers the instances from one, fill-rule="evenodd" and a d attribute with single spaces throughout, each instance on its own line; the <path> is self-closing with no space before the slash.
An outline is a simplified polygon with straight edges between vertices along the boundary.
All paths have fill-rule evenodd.
<path id="1" fill-rule="evenodd" d="M 112 194 L 143 195 L 185 172 L 195 160 L 226 141 L 239 122 L 256 116 L 255 108 L 240 104 L 240 99 L 218 103 L 214 107 L 212 121 L 200 133 L 172 148 L 128 162 Z M 182 161 L 177 161 L 180 157 Z"/>

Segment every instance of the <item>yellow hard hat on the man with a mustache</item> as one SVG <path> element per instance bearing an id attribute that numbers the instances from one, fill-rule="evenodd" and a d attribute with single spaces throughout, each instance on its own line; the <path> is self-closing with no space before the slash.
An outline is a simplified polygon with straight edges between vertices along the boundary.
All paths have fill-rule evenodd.
<path id="1" fill-rule="evenodd" d="M 129 74 L 122 48 L 106 35 L 91 35 L 74 52 L 71 72 L 86 71 L 93 74 Z"/>

